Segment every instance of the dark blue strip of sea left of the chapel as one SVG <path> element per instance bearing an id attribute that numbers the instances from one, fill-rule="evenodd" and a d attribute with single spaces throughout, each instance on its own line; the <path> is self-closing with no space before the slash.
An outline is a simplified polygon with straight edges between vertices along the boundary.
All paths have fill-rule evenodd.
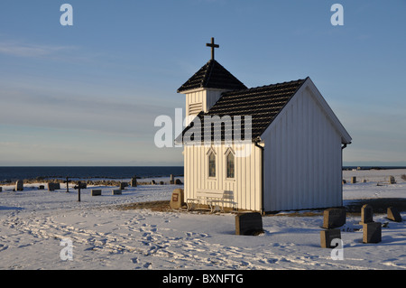
<path id="1" fill-rule="evenodd" d="M 0 181 L 26 179 L 130 179 L 183 176 L 183 166 L 18 166 L 0 167 Z"/>

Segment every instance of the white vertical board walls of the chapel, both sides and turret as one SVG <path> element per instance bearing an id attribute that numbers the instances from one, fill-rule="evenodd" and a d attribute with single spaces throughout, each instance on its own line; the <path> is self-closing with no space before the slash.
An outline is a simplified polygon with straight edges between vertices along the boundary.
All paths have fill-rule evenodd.
<path id="1" fill-rule="evenodd" d="M 235 157 L 235 179 L 226 179 L 226 151 L 235 145 L 184 146 L 185 197 L 196 190 L 233 190 L 238 209 L 265 211 L 342 205 L 341 135 L 310 88 L 300 88 L 263 133 L 263 204 L 261 150 Z M 187 94 L 186 107 L 211 107 L 221 91 Z M 208 151 L 216 153 L 216 177 L 208 177 Z"/>

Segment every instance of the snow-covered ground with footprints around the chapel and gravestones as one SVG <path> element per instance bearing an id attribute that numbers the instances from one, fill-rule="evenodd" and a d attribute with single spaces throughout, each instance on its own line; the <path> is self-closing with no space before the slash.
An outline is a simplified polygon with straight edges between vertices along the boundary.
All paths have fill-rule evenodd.
<path id="1" fill-rule="evenodd" d="M 346 171 L 345 204 L 371 198 L 406 198 L 405 170 Z M 389 175 L 396 184 L 377 186 Z M 122 195 L 90 196 L 90 189 L 50 192 L 26 185 L 0 192 L 0 269 L 406 269 L 406 222 L 395 223 L 384 214 L 375 221 L 389 222 L 382 242 L 363 244 L 357 216 L 347 215 L 343 227 L 343 260 L 320 247 L 323 218 L 291 216 L 289 211 L 263 217 L 265 233 L 235 236 L 235 215 L 159 212 L 150 209 L 115 209 L 115 204 L 170 200 L 182 186 L 128 187 Z M 281 215 L 286 214 L 286 215 Z M 61 251 L 71 241 L 71 260 Z M 66 254 L 62 253 L 62 258 Z"/>

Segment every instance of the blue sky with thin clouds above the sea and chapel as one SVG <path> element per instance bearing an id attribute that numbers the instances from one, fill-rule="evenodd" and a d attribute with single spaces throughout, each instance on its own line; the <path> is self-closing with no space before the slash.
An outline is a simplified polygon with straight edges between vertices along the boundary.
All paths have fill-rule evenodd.
<path id="1" fill-rule="evenodd" d="M 176 90 L 210 37 L 247 87 L 309 76 L 353 137 L 345 165 L 406 165 L 405 13 L 405 0 L 1 1 L 0 166 L 182 165 L 182 148 L 155 146 L 154 119 L 184 107 Z"/>

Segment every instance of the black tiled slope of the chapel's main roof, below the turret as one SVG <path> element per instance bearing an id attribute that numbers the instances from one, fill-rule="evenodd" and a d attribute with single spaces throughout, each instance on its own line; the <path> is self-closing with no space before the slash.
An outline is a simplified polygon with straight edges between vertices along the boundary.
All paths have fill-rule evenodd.
<path id="1" fill-rule="evenodd" d="M 306 78 L 308 79 L 308 78 Z M 258 88 L 247 88 L 235 91 L 224 92 L 218 99 L 217 103 L 209 109 L 207 113 L 200 112 L 198 118 L 201 123 L 201 141 L 203 141 L 205 125 L 211 126 L 212 121 L 207 124 L 204 123 L 205 116 L 231 116 L 234 123 L 235 116 L 242 116 L 241 121 L 241 140 L 245 140 L 245 122 L 243 116 L 252 116 L 252 139 L 261 136 L 265 129 L 272 123 L 273 119 L 281 112 L 283 107 L 291 100 L 296 91 L 306 81 L 306 79 L 299 79 L 290 82 L 279 84 L 272 84 Z M 234 130 L 226 129 L 223 124 L 221 129 L 221 140 L 233 139 Z M 195 129 L 195 131 L 193 130 Z M 197 127 L 194 127 L 193 122 L 186 127 L 182 134 L 176 139 L 177 143 L 183 142 L 183 135 L 188 132 L 188 135 L 197 135 Z M 209 128 L 210 129 L 210 128 Z M 212 140 L 215 139 L 215 129 L 211 128 Z M 210 130 L 208 130 L 210 131 Z M 216 133 L 216 137 L 219 137 Z M 229 138 L 231 137 L 231 138 Z M 194 140 L 191 137 L 191 140 Z M 218 139 L 218 138 L 216 138 Z M 240 139 L 239 137 L 236 139 Z M 185 139 L 186 140 L 186 139 Z M 247 139 L 246 139 L 247 140 Z"/>

